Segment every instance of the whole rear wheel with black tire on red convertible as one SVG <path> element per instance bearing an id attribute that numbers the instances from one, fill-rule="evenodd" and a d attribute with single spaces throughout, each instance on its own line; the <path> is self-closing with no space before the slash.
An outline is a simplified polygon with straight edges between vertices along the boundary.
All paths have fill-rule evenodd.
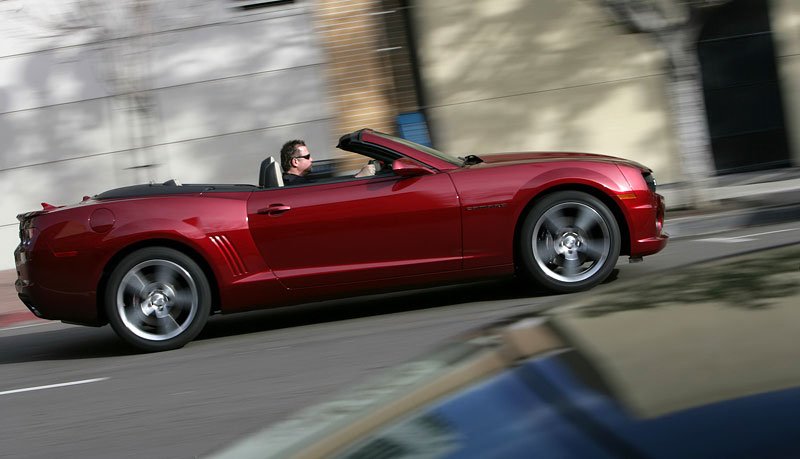
<path id="1" fill-rule="evenodd" d="M 211 287 L 187 255 L 147 247 L 114 268 L 104 307 L 123 341 L 146 352 L 167 351 L 183 347 L 203 329 L 211 311 Z"/>

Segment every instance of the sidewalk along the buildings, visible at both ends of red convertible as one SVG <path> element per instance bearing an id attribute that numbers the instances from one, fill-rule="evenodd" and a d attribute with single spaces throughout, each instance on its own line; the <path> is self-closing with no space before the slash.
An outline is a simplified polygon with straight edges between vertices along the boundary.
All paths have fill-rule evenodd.
<path id="1" fill-rule="evenodd" d="M 659 186 L 667 202 L 664 230 L 673 239 L 749 226 L 800 220 L 800 167 L 722 176 L 707 190 L 713 202 L 705 211 L 682 210 L 686 190 L 680 184 Z M 0 271 L 0 329 L 45 322 L 17 298 L 16 271 Z"/>

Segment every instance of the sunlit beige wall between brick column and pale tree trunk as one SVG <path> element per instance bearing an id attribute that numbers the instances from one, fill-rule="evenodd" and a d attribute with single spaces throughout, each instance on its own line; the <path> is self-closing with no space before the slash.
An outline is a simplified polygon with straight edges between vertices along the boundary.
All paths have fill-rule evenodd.
<path id="1" fill-rule="evenodd" d="M 416 2 L 435 146 L 605 153 L 646 164 L 660 182 L 680 180 L 664 55 L 598 5 Z"/>

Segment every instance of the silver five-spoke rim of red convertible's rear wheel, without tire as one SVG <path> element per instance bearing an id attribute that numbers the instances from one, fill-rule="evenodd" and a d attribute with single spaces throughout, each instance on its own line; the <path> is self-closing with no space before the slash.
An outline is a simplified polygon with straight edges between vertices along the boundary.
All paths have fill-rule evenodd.
<path id="1" fill-rule="evenodd" d="M 169 260 L 147 260 L 123 276 L 116 295 L 123 325 L 136 336 L 166 341 L 183 333 L 199 309 L 191 274 Z"/>

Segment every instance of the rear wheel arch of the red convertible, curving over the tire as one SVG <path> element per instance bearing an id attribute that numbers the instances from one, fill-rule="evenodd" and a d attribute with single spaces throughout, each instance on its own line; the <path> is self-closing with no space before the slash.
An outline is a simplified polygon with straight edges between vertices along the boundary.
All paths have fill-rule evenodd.
<path id="1" fill-rule="evenodd" d="M 118 250 L 103 266 L 102 274 L 100 275 L 100 279 L 97 283 L 97 293 L 96 293 L 96 303 L 97 303 L 97 314 L 98 317 L 104 321 L 108 321 L 108 317 L 106 317 L 105 308 L 103 307 L 103 298 L 105 298 L 106 293 L 106 286 L 108 285 L 108 279 L 111 276 L 111 273 L 114 271 L 114 268 L 128 255 L 137 250 L 141 250 L 148 247 L 166 247 L 169 249 L 177 250 L 178 252 L 183 253 L 184 255 L 191 258 L 200 269 L 203 270 L 203 274 L 206 275 L 208 279 L 209 287 L 211 288 L 211 313 L 214 314 L 219 310 L 220 304 L 220 293 L 219 293 L 219 283 L 217 282 L 217 277 L 214 274 L 214 270 L 211 269 L 211 265 L 208 263 L 208 260 L 203 257 L 200 252 L 195 250 L 188 244 L 185 244 L 180 241 L 176 241 L 174 239 L 166 239 L 166 238 L 155 238 L 155 239 L 146 239 L 143 241 L 137 241 L 133 244 L 127 245 L 122 249 Z"/>

